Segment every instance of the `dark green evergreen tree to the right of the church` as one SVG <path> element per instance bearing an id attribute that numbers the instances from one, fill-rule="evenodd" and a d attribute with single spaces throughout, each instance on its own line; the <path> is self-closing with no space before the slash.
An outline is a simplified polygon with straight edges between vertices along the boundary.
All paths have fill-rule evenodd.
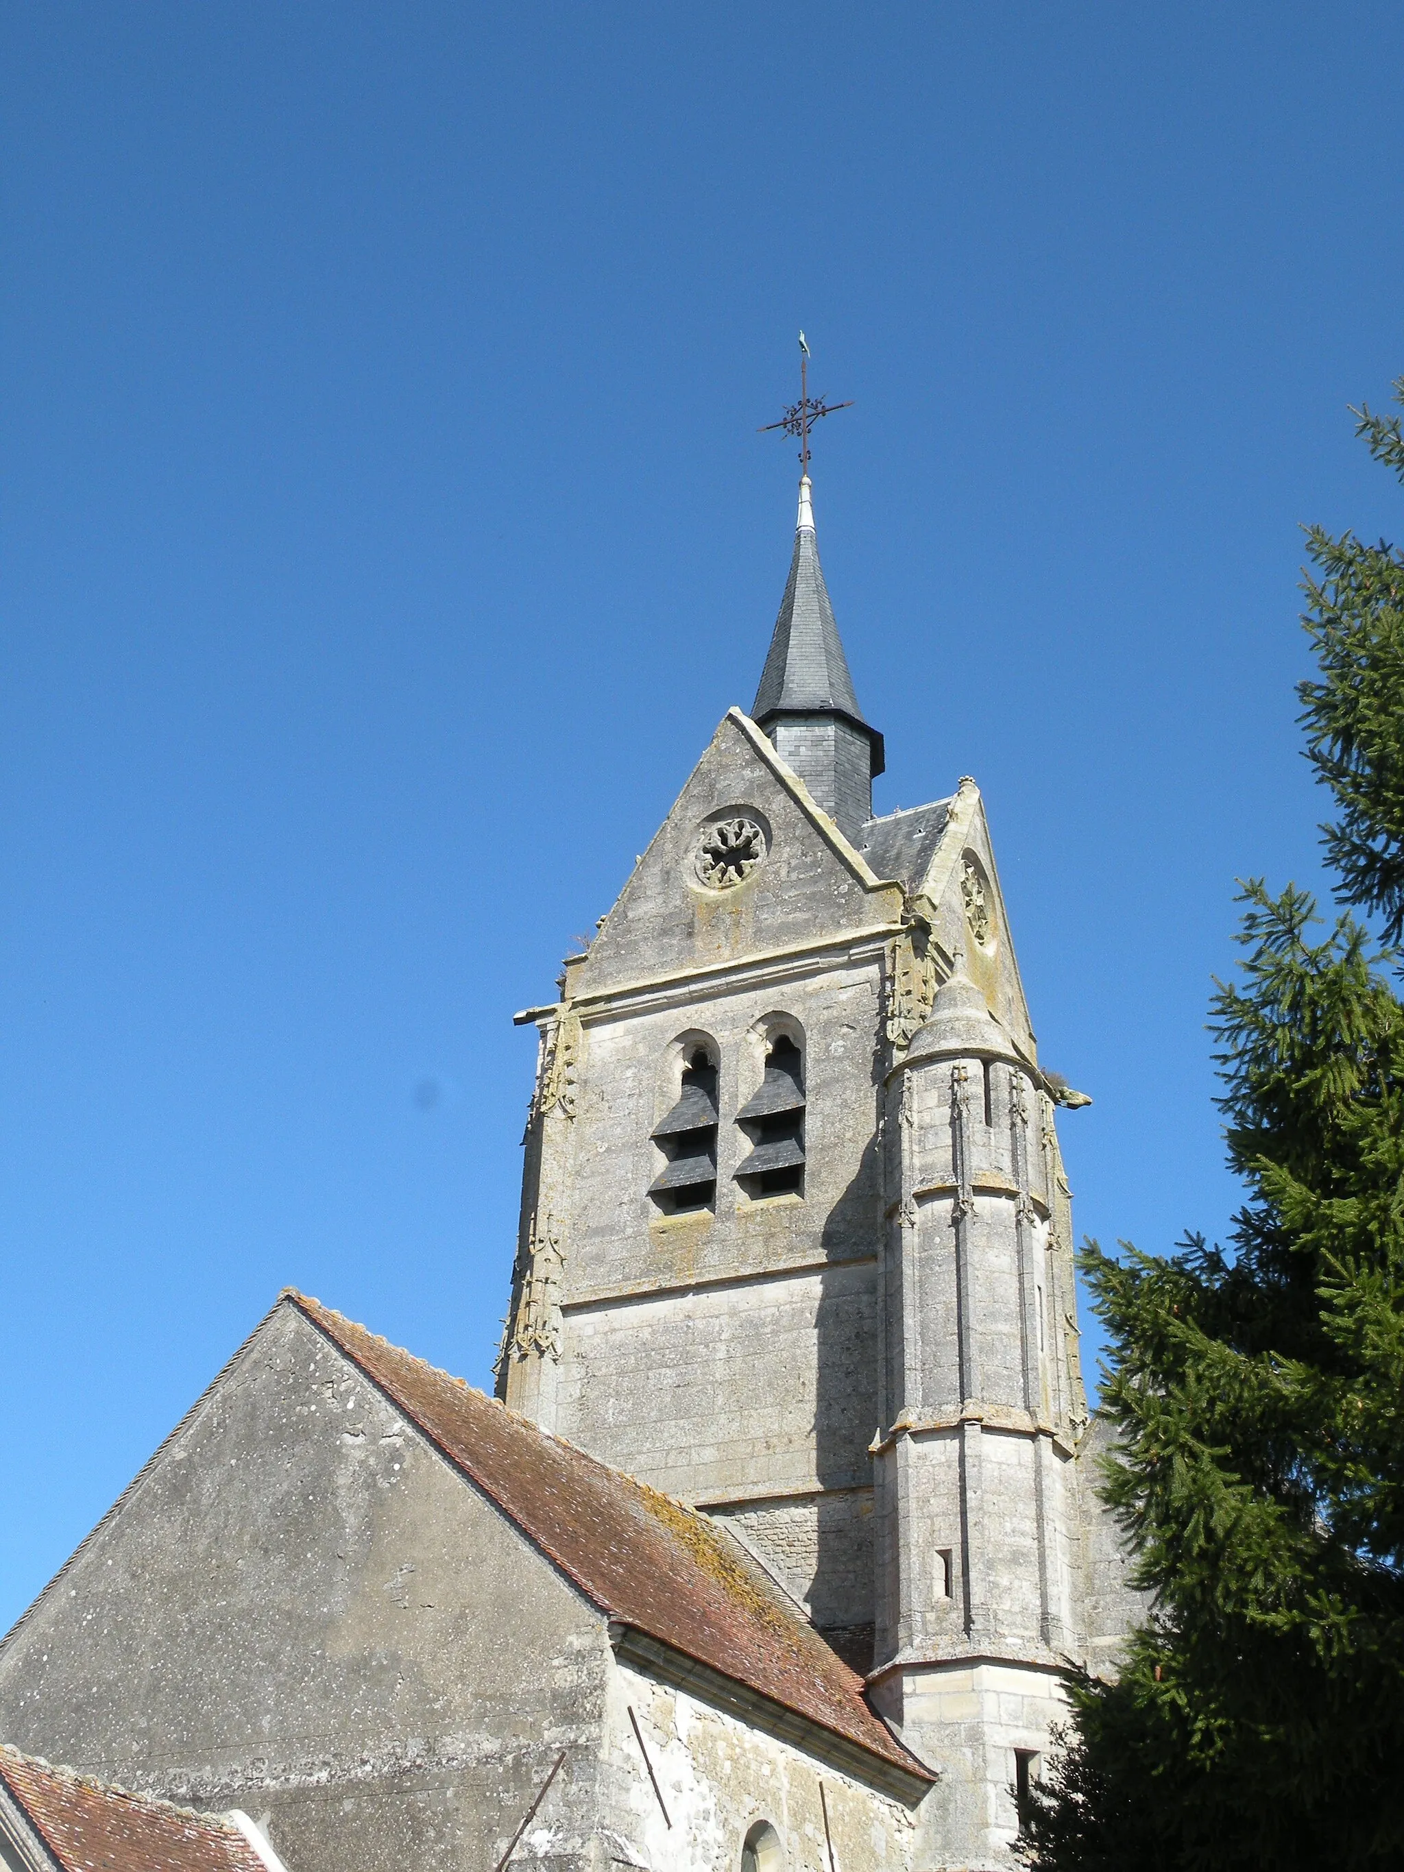
<path id="1" fill-rule="evenodd" d="M 1357 414 L 1404 479 L 1400 419 Z M 1348 908 L 1243 891 L 1213 1002 L 1230 1249 L 1082 1256 L 1149 1610 L 1116 1683 L 1069 1681 L 1039 1872 L 1404 1865 L 1404 1005 L 1352 914 L 1404 936 L 1404 558 L 1309 548 L 1303 726 Z"/>

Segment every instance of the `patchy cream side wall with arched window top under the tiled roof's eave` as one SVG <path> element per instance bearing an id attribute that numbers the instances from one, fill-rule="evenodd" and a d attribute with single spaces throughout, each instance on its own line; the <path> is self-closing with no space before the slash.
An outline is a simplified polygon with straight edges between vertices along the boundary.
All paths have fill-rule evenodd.
<path id="1" fill-rule="evenodd" d="M 899 1801 L 616 1664 L 601 1773 L 601 1838 L 608 1853 L 635 1866 L 732 1872 L 758 1821 L 779 1835 L 784 1872 L 829 1872 L 829 1838 L 839 1872 L 908 1872 L 919 1835 L 917 1816 Z"/>

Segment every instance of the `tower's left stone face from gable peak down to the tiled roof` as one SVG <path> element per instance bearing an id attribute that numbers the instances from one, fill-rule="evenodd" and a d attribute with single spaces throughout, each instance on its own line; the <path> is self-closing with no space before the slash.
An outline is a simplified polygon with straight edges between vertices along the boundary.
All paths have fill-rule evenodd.
<path id="1" fill-rule="evenodd" d="M 745 882 L 706 889 L 695 856 L 719 811 L 762 824 L 768 846 Z M 728 717 L 569 970 L 528 1140 L 517 1288 L 548 1269 L 534 1292 L 550 1320 L 528 1353 L 509 1348 L 507 1402 L 739 1516 L 826 1627 L 872 1621 L 876 1140 L 899 910 Z M 734 1176 L 754 1146 L 736 1114 L 781 1033 L 803 1056 L 805 1181 L 754 1200 Z M 666 1163 L 651 1133 L 696 1046 L 719 1067 L 715 1200 L 668 1215 L 650 1198 Z"/>

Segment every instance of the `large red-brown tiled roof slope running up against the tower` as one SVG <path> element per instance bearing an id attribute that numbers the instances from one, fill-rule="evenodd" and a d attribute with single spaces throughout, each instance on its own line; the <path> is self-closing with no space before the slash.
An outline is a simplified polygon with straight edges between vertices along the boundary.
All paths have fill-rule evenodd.
<path id="1" fill-rule="evenodd" d="M 328 1338 L 472 1477 L 607 1617 L 631 1625 L 908 1775 L 932 1777 L 863 1696 L 863 1679 L 724 1529 L 595 1462 L 320 1301 L 286 1290 Z"/>

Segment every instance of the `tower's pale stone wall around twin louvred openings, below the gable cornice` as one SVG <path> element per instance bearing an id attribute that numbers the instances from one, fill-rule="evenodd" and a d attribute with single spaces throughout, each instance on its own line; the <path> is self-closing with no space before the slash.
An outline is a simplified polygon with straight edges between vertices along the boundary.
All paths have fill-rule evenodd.
<path id="1" fill-rule="evenodd" d="M 872 1619 L 867 1490 L 876 1423 L 876 1241 L 882 1185 L 874 1052 L 882 951 L 796 964 L 749 987 L 584 1024 L 569 1170 L 552 1211 L 565 1265 L 554 1428 L 689 1501 L 764 1498 L 805 1528 L 794 1580 L 826 1625 Z M 805 1191 L 751 1200 L 732 1172 L 751 1149 L 736 1112 L 792 1033 L 805 1060 Z M 715 1209 L 663 1215 L 650 1133 L 678 1097 L 678 1060 L 706 1037 L 721 1065 Z M 777 1498 L 792 1498 L 784 1516 Z"/>

